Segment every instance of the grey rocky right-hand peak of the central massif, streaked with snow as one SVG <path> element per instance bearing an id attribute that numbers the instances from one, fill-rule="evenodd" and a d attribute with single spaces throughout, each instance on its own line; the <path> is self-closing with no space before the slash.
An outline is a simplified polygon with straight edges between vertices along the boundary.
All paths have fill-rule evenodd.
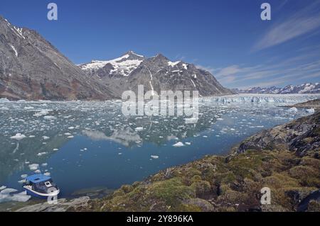
<path id="1" fill-rule="evenodd" d="M 144 85 L 146 91 L 199 91 L 200 96 L 232 94 L 209 72 L 197 69 L 193 64 L 171 62 L 163 55 L 144 60 L 128 79 L 133 90 Z"/>

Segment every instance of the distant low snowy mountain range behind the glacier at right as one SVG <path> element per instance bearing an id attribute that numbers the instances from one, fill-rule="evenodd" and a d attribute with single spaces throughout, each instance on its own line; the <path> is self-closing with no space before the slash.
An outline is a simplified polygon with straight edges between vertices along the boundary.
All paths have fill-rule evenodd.
<path id="1" fill-rule="evenodd" d="M 319 83 L 306 83 L 298 86 L 285 86 L 277 88 L 275 86 L 260 88 L 253 87 L 250 89 L 233 89 L 238 94 L 320 94 Z"/>

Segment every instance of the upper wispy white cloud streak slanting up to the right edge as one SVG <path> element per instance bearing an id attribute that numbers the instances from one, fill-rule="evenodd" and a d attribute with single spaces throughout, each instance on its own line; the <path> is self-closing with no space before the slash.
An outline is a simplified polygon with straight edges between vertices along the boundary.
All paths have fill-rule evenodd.
<path id="1" fill-rule="evenodd" d="M 320 26 L 320 1 L 294 13 L 289 18 L 274 26 L 263 35 L 253 46 L 252 50 L 263 50 L 274 45 L 285 43 L 306 33 L 316 30 Z"/>

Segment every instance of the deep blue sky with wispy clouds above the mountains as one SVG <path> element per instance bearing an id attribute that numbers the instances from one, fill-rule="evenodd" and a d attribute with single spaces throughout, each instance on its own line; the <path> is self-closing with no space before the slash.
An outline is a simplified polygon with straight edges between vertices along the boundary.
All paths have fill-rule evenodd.
<path id="1" fill-rule="evenodd" d="M 132 50 L 196 64 L 228 88 L 320 82 L 320 0 L 1 0 L 0 15 L 75 64 Z"/>

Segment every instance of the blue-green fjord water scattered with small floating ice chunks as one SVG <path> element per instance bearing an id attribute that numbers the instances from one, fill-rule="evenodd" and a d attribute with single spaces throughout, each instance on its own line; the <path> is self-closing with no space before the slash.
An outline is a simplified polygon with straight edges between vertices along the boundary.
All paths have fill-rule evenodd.
<path id="1" fill-rule="evenodd" d="M 63 197 L 82 188 L 119 188 L 206 154 L 225 154 L 256 132 L 307 114 L 275 103 L 207 98 L 193 125 L 174 116 L 127 118 L 121 106 L 120 101 L 0 103 L 0 187 L 22 191 L 23 174 L 41 172 L 50 173 Z M 17 133 L 18 139 L 11 138 Z"/>

